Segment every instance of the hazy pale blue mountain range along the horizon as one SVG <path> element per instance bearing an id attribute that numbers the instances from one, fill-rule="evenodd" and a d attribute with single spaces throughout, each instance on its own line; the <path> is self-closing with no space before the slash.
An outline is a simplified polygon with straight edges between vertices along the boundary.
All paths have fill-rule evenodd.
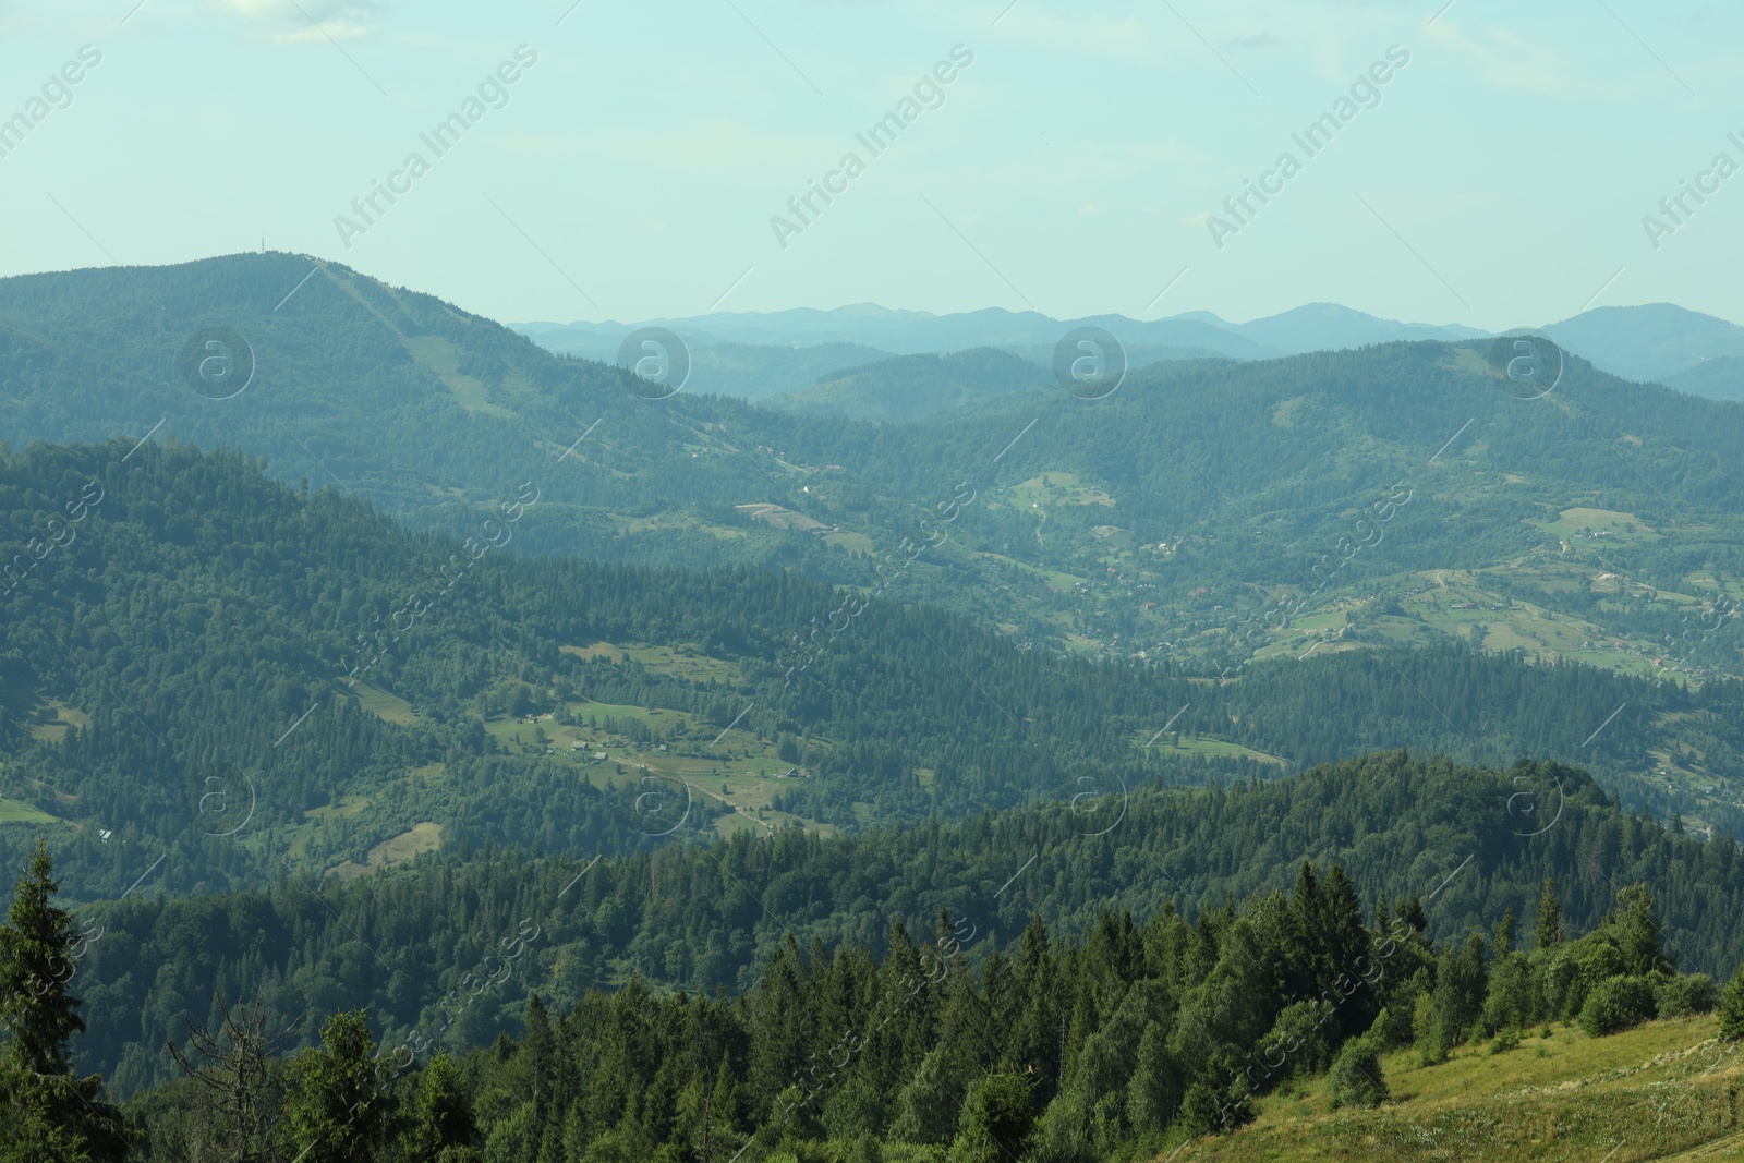
<path id="1" fill-rule="evenodd" d="M 1134 368 L 1493 335 L 1461 324 L 1381 319 L 1338 303 L 1308 303 L 1250 323 L 1230 323 L 1207 310 L 1155 321 L 1125 316 L 1052 319 L 1034 310 L 935 316 L 856 303 L 834 310 L 720 312 L 640 323 L 525 323 L 514 330 L 555 352 L 614 361 L 623 337 L 638 326 L 664 326 L 684 337 L 696 359 L 691 391 L 769 399 L 774 406 L 788 406 L 788 401 L 773 398 L 792 396 L 795 403 L 806 401 L 807 410 L 821 398 L 841 403 L 849 415 L 879 415 L 884 408 L 875 399 L 821 391 L 823 380 L 860 373 L 889 356 L 944 356 L 987 347 L 1046 366 L 1059 338 L 1080 326 L 1114 335 Z M 1714 316 L 1672 303 L 1596 307 L 1549 324 L 1543 333 L 1622 378 L 1666 384 L 1711 399 L 1744 399 L 1744 328 Z M 940 406 L 949 406 L 950 399 Z M 900 411 L 917 415 L 912 403 Z"/>

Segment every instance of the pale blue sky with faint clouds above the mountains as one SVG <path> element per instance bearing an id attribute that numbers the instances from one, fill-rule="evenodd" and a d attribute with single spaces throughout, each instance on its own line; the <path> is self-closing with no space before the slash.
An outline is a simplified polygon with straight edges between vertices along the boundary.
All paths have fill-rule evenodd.
<path id="1" fill-rule="evenodd" d="M 0 10 L 0 119 L 101 52 L 0 157 L 0 274 L 265 235 L 504 321 L 1318 300 L 1484 328 L 1589 300 L 1744 321 L 1744 174 L 1657 249 L 1641 221 L 1716 153 L 1744 164 L 1735 3 L 134 3 Z M 508 105 L 436 157 L 419 134 L 521 44 Z M 1395 44 L 1380 103 L 1306 157 L 1291 134 Z M 855 134 L 954 45 L 973 65 L 872 157 Z M 783 249 L 771 216 L 849 150 L 865 173 Z M 1217 249 L 1203 214 L 1284 150 L 1301 173 Z M 429 173 L 347 249 L 335 216 L 412 152 Z"/>

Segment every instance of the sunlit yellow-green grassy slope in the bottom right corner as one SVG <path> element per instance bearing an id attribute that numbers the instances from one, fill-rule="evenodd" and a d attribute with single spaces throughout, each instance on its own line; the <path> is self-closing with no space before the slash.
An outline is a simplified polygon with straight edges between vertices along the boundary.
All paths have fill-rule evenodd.
<path id="1" fill-rule="evenodd" d="M 1320 1076 L 1264 1098 L 1250 1126 L 1156 1160 L 1737 1160 L 1744 1044 L 1716 1030 L 1713 1015 L 1598 1039 L 1556 1025 L 1549 1039 L 1529 1032 L 1502 1055 L 1465 1046 L 1435 1067 L 1404 1050 L 1383 1060 L 1393 1102 L 1378 1111 L 1329 1112 Z"/>

